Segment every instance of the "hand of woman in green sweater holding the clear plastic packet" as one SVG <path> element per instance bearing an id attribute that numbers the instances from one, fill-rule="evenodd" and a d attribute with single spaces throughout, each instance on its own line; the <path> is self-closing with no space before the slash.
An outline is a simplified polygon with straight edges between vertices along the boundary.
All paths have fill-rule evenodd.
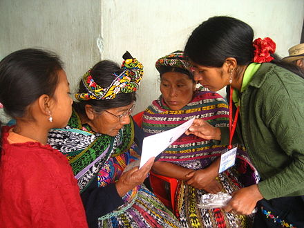
<path id="1" fill-rule="evenodd" d="M 258 190 L 258 185 L 254 184 L 243 189 L 238 189 L 232 193 L 231 200 L 223 209 L 226 212 L 234 212 L 241 215 L 249 215 L 254 211 L 256 202 L 262 200 L 263 196 Z"/>

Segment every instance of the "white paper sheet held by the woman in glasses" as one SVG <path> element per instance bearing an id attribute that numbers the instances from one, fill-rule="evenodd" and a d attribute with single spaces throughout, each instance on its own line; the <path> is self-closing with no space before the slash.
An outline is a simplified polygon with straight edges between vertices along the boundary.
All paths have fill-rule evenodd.
<path id="1" fill-rule="evenodd" d="M 180 135 L 182 135 L 193 123 L 195 118 L 184 122 L 180 126 L 158 133 L 155 135 L 150 135 L 144 137 L 144 142 L 142 143 L 142 157 L 140 159 L 140 168 L 152 157 L 156 157 L 162 151 L 167 149 L 175 140 L 177 140 Z"/>

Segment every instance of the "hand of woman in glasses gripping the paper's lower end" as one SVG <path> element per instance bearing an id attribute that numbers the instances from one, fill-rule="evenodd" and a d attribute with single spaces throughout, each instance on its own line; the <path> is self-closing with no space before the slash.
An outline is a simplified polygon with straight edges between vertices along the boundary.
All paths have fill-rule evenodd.
<path id="1" fill-rule="evenodd" d="M 146 175 L 149 173 L 151 167 L 153 166 L 154 159 L 155 158 L 150 158 L 148 162 L 142 166 L 141 169 L 134 167 L 133 169 L 126 171 L 126 173 L 122 173 L 120 179 L 115 184 L 117 193 L 120 195 L 120 197 L 126 195 L 128 191 L 144 182 Z"/>

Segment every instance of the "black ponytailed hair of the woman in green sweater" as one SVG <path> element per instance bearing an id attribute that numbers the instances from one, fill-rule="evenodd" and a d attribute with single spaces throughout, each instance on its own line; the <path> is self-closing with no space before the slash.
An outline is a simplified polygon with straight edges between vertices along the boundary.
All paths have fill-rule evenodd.
<path id="1" fill-rule="evenodd" d="M 254 57 L 253 39 L 254 30 L 247 23 L 233 17 L 211 17 L 193 30 L 184 54 L 202 66 L 221 67 L 227 57 L 234 57 L 238 65 L 244 66 Z M 303 77 L 300 68 L 272 56 L 272 63 Z"/>

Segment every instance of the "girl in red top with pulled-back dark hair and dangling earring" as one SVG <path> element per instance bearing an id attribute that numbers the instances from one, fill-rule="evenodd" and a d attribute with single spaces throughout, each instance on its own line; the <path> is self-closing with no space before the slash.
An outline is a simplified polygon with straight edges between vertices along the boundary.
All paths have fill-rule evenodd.
<path id="1" fill-rule="evenodd" d="M 24 49 L 2 59 L 0 103 L 16 120 L 1 129 L 1 226 L 87 227 L 68 160 L 46 144 L 48 131 L 66 126 L 72 111 L 59 57 Z"/>

